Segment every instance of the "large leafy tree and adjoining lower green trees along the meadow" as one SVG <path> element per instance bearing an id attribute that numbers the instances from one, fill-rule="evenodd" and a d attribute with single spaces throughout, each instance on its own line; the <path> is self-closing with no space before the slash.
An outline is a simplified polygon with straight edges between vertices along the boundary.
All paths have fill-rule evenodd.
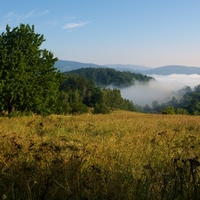
<path id="1" fill-rule="evenodd" d="M 101 89 L 80 75 L 66 76 L 54 67 L 57 58 L 41 49 L 44 35 L 21 24 L 0 35 L 0 112 L 109 113 L 112 108 L 135 110 L 117 89 Z M 112 70 L 111 70 L 112 71 Z M 115 73 L 115 71 L 113 71 Z"/>

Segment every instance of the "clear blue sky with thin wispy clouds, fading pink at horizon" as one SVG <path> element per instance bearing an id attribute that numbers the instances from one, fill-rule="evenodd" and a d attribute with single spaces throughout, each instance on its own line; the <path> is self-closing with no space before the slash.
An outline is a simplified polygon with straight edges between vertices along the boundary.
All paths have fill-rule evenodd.
<path id="1" fill-rule="evenodd" d="M 200 0 L 0 0 L 6 24 L 35 26 L 63 60 L 200 67 Z"/>

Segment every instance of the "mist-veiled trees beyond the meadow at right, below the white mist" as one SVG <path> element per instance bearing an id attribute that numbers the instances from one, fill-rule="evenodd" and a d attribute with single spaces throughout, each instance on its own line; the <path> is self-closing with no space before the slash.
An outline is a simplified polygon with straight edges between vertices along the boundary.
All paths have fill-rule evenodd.
<path id="1" fill-rule="evenodd" d="M 167 103 L 153 101 L 151 106 L 136 107 L 148 113 L 200 115 L 200 84 L 193 90 L 189 86 L 182 88 Z"/>

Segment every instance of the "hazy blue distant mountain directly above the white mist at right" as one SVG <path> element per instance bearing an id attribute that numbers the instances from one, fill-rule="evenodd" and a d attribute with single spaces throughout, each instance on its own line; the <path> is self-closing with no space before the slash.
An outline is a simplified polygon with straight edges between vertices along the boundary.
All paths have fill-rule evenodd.
<path id="1" fill-rule="evenodd" d="M 142 74 L 157 74 L 157 75 L 170 75 L 170 74 L 199 74 L 200 67 L 187 67 L 182 65 L 168 65 L 157 68 L 151 68 L 149 70 L 143 70 Z"/>

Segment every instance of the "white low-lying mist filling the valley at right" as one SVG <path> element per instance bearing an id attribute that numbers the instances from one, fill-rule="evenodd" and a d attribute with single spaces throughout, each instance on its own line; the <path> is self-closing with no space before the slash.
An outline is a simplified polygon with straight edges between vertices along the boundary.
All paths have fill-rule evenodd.
<path id="1" fill-rule="evenodd" d="M 150 81 L 148 84 L 137 82 L 134 86 L 120 89 L 121 95 L 125 99 L 133 101 L 136 105 L 152 105 L 153 101 L 164 103 L 169 100 L 173 92 L 177 92 L 185 86 L 190 86 L 193 90 L 200 84 L 200 75 L 192 74 L 172 74 L 169 76 L 151 75 L 156 81 Z"/>

